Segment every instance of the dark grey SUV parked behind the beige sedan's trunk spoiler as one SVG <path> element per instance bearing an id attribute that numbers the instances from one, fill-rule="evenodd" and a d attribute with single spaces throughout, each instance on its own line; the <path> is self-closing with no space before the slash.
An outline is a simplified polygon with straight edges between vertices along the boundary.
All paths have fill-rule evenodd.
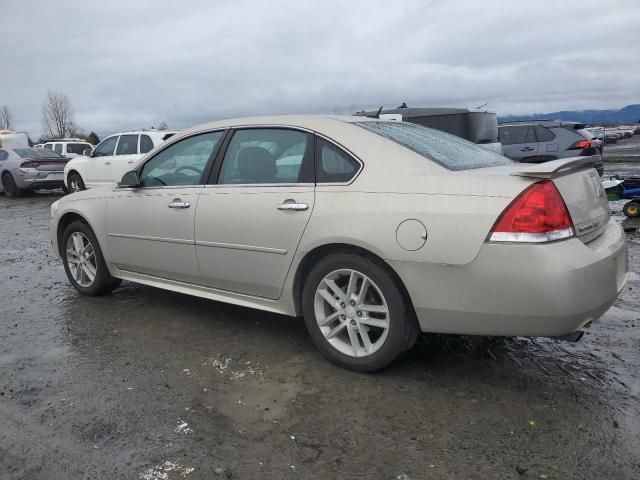
<path id="1" fill-rule="evenodd" d="M 604 173 L 602 143 L 593 141 L 586 126 L 577 122 L 533 120 L 503 123 L 498 127 L 505 156 L 523 163 L 541 163 L 577 156 L 596 157 L 596 170 Z"/>

